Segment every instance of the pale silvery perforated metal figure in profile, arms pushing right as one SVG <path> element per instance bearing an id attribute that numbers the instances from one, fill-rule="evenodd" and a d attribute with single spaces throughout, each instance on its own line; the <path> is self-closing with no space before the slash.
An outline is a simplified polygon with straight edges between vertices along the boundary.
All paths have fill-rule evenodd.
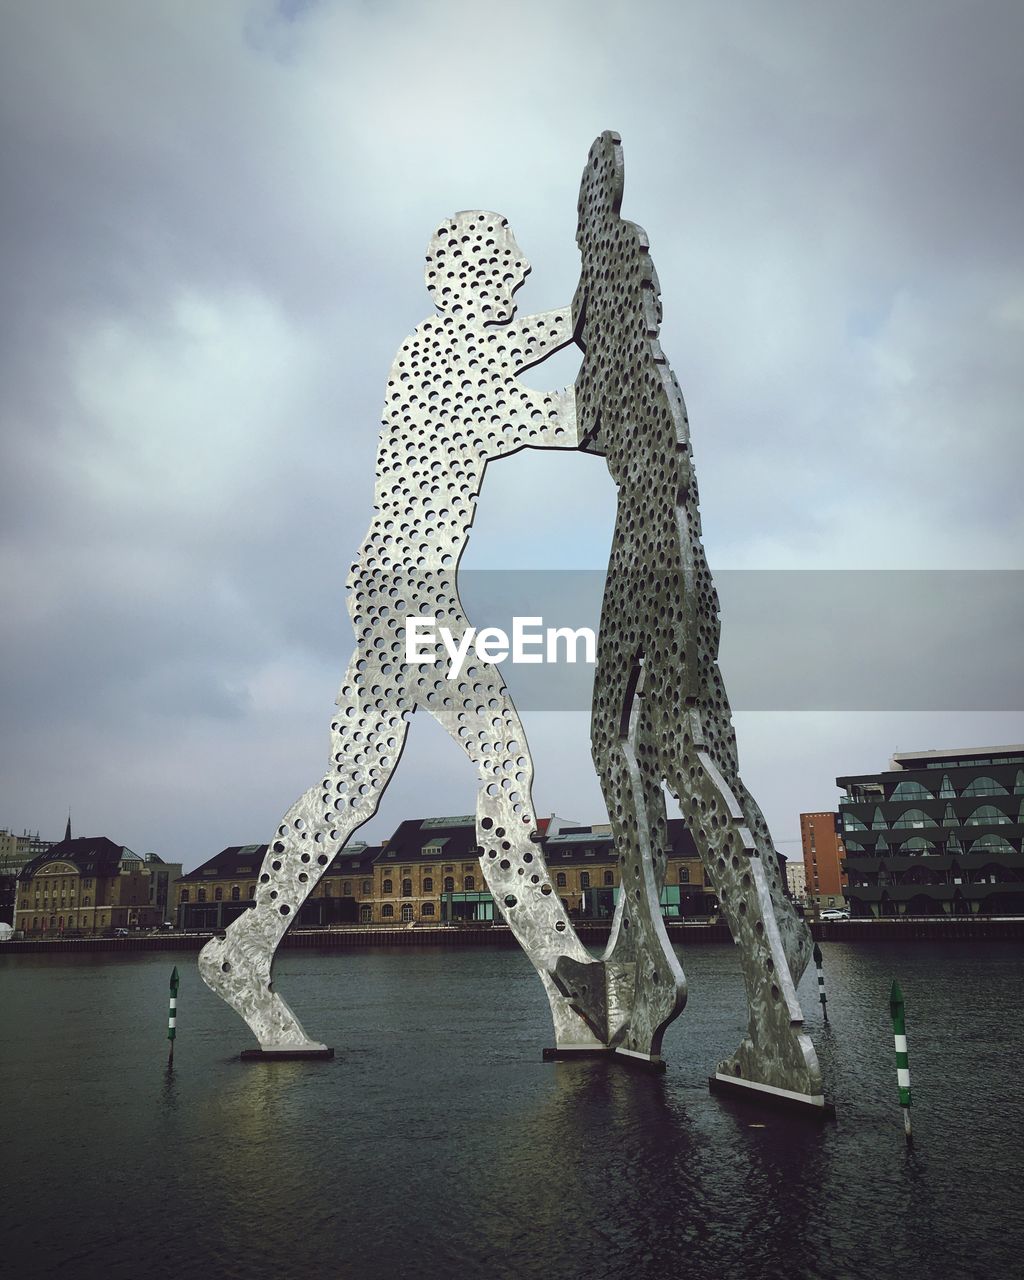
<path id="1" fill-rule="evenodd" d="M 323 1052 L 274 991 L 274 952 L 296 911 L 370 819 L 417 710 L 433 716 L 476 768 L 484 879 L 548 992 L 556 1042 L 600 1047 L 556 986 L 559 956 L 589 960 L 553 892 L 536 842 L 532 762 L 497 667 L 471 662 L 443 678 L 406 662 L 407 617 L 436 620 L 458 641 L 458 598 L 488 462 L 526 447 L 575 448 L 572 390 L 543 393 L 517 375 L 572 340 L 570 310 L 516 320 L 530 271 L 499 214 L 456 214 L 430 241 L 426 285 L 438 315 L 398 351 L 388 378 L 370 530 L 348 577 L 356 649 L 337 699 L 324 777 L 288 810 L 261 868 L 256 902 L 200 956 L 205 982 L 248 1023 L 268 1053 Z"/>

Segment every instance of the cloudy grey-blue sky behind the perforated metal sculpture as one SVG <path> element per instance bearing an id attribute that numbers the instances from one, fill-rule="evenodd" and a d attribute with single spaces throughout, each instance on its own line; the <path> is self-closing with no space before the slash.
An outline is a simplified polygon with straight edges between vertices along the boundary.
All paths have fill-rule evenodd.
<path id="1" fill-rule="evenodd" d="M 831 571 L 818 621 L 838 571 L 1006 571 L 968 626 L 936 575 L 952 654 L 870 614 L 879 662 L 938 672 L 932 703 L 737 710 L 780 847 L 840 773 L 1024 740 L 1019 685 L 942 680 L 957 653 L 1002 669 L 1020 617 L 1021 47 L 1016 0 L 3 0 L 0 826 L 56 838 L 70 808 L 186 865 L 268 838 L 324 764 L 429 234 L 502 211 L 521 312 L 564 305 L 607 128 L 712 568 Z M 572 376 L 563 355 L 527 380 Z M 599 570 L 613 508 L 600 460 L 506 460 L 465 564 Z M 727 681 L 759 660 L 736 634 Z M 586 714 L 525 714 L 539 810 L 600 820 Z M 421 721 L 370 836 L 474 806 Z"/>

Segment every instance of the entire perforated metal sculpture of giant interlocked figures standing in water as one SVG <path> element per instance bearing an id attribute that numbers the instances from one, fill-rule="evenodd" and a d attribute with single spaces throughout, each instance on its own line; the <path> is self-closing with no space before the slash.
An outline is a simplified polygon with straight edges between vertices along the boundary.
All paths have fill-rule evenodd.
<path id="1" fill-rule="evenodd" d="M 666 1027 L 686 1001 L 668 941 L 664 787 L 680 801 L 736 940 L 748 1038 L 713 1080 L 822 1106 L 795 984 L 810 940 L 786 899 L 771 836 L 740 781 L 718 671 L 718 600 L 700 543 L 682 396 L 658 343 L 660 300 L 644 232 L 620 216 L 622 148 L 604 133 L 580 189 L 581 279 L 572 308 L 515 320 L 530 268 L 504 218 L 457 214 L 434 234 L 426 283 L 438 315 L 392 366 L 374 518 L 348 580 L 356 649 L 338 695 L 329 767 L 285 814 L 256 904 L 202 951 L 204 979 L 248 1023 L 265 1053 L 323 1052 L 273 989 L 280 938 L 334 855 L 380 803 L 417 709 L 475 765 L 484 879 L 540 974 L 556 1052 L 660 1065 Z M 575 389 L 540 393 L 517 375 L 572 339 Z M 404 622 L 430 617 L 458 640 L 457 584 L 486 465 L 522 448 L 605 457 L 618 512 L 598 641 L 591 741 L 620 863 L 603 959 L 579 941 L 538 842 L 532 762 L 497 668 L 458 677 L 406 662 Z"/>

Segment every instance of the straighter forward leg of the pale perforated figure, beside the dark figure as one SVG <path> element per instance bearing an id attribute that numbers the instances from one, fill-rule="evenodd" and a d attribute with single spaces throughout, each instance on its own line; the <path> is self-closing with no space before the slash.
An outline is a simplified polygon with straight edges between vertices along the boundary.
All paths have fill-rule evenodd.
<path id="1" fill-rule="evenodd" d="M 522 723 L 494 667 L 481 666 L 470 675 L 472 696 L 457 708 L 439 708 L 429 700 L 421 705 L 476 765 L 476 841 L 484 881 L 540 975 L 556 1047 L 567 1052 L 604 1048 L 603 966 L 576 936 L 550 883 L 540 845 L 531 838 L 536 832 L 534 767 Z"/>

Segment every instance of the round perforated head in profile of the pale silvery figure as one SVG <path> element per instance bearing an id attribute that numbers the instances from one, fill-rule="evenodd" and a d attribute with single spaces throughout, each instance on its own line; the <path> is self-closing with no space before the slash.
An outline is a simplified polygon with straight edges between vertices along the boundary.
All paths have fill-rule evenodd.
<path id="1" fill-rule="evenodd" d="M 426 288 L 438 311 L 484 324 L 508 324 L 513 294 L 530 274 L 508 219 L 472 209 L 456 214 L 426 248 Z"/>

